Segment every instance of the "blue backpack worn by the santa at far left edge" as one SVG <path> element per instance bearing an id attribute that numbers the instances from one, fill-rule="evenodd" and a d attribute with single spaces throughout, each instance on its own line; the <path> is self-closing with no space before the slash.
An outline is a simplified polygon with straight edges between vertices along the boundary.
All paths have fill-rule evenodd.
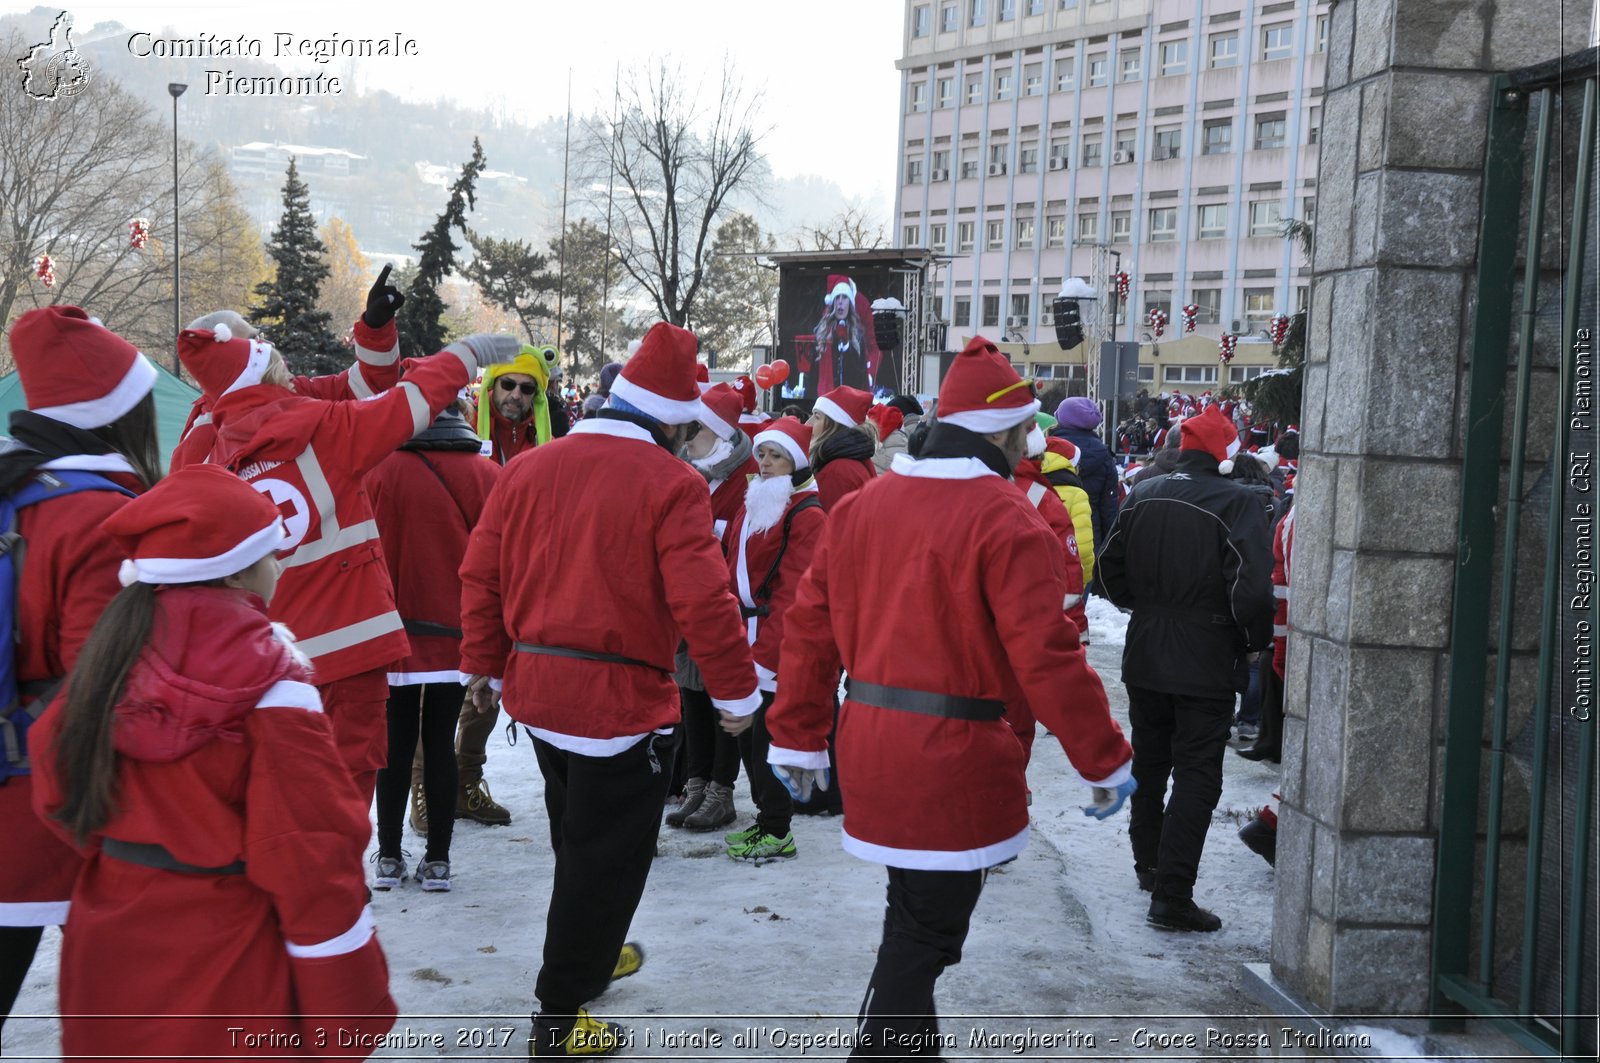
<path id="1" fill-rule="evenodd" d="M 120 491 L 133 498 L 133 491 L 112 483 L 94 472 L 62 469 L 59 472 L 37 471 L 22 487 L 0 495 L 0 784 L 13 775 L 29 775 L 27 728 L 50 704 L 51 696 L 66 682 L 66 676 L 38 682 L 18 684 L 16 647 L 21 640 L 18 618 L 18 594 L 22 588 L 22 560 L 27 543 L 18 532 L 18 511 L 46 498 L 66 498 L 78 491 Z M 27 706 L 24 696 L 34 698 Z"/>

